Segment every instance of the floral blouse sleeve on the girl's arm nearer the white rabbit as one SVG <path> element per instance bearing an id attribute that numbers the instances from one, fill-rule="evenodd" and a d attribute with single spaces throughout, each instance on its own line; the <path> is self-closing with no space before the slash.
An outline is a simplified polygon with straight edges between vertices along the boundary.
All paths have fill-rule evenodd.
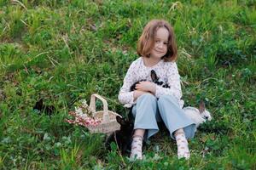
<path id="1" fill-rule="evenodd" d="M 177 99 L 181 99 L 182 90 L 181 90 L 180 76 L 177 71 L 177 64 L 170 63 L 166 71 L 167 71 L 167 84 L 170 86 L 170 88 L 162 88 L 157 85 L 155 89 L 155 96 L 159 98 L 163 94 L 169 94 L 169 95 L 173 95 Z"/>

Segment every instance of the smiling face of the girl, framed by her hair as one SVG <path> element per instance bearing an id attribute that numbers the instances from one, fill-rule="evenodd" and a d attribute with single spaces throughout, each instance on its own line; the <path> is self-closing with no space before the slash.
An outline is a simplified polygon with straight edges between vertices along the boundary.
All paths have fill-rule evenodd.
<path id="1" fill-rule="evenodd" d="M 154 48 L 150 52 L 150 57 L 161 59 L 167 53 L 169 31 L 165 27 L 160 27 L 154 37 Z"/>

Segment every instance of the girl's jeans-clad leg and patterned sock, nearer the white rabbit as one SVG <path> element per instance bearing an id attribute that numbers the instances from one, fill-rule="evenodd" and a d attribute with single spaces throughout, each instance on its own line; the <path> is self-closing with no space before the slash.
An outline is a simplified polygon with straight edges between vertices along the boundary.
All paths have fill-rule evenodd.
<path id="1" fill-rule="evenodd" d="M 171 95 L 160 96 L 158 107 L 160 116 L 168 128 L 171 138 L 177 141 L 178 157 L 189 158 L 187 139 L 194 137 L 195 122 L 184 114 L 178 105 L 177 99 Z"/>

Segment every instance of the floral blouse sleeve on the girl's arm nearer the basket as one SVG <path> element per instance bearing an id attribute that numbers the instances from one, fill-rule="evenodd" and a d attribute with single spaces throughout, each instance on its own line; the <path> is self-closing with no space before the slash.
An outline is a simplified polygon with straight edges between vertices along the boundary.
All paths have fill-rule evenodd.
<path id="1" fill-rule="evenodd" d="M 119 102 L 125 107 L 131 107 L 131 105 L 136 102 L 133 101 L 133 93 L 130 92 L 131 86 L 136 82 L 136 73 L 135 73 L 135 64 L 131 63 L 130 68 L 128 69 L 122 88 L 119 90 Z"/>

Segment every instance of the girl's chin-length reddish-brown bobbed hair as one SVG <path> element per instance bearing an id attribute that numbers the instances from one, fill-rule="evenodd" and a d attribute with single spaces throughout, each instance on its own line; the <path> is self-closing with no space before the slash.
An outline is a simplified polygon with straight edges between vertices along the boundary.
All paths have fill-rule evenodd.
<path id="1" fill-rule="evenodd" d="M 154 48 L 154 37 L 156 31 L 164 27 L 169 31 L 167 53 L 163 56 L 165 61 L 175 61 L 177 59 L 177 44 L 175 41 L 172 26 L 166 20 L 150 20 L 144 27 L 143 34 L 137 42 L 137 54 L 142 57 L 150 57 L 150 51 Z"/>

